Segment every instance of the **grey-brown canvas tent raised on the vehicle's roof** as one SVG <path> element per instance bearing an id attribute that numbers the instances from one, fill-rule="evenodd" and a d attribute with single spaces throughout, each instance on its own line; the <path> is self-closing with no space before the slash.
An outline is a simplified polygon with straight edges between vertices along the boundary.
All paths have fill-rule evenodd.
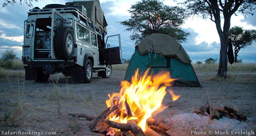
<path id="1" fill-rule="evenodd" d="M 107 31 L 106 27 L 108 23 L 105 19 L 104 12 L 101 9 L 100 1 L 98 0 L 90 0 L 90 1 L 73 1 L 68 2 L 66 5 L 69 4 L 80 4 L 86 8 L 87 17 L 92 20 L 96 26 L 100 27 L 102 30 Z"/>

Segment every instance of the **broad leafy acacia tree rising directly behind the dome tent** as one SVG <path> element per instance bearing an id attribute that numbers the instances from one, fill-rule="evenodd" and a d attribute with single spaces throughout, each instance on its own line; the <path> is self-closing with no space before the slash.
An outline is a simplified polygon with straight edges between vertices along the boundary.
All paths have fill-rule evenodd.
<path id="1" fill-rule="evenodd" d="M 184 8 L 164 5 L 159 0 L 142 0 L 128 11 L 131 19 L 119 23 L 127 27 L 125 30 L 132 31 L 130 39 L 135 44 L 153 33 L 167 34 L 179 42 L 186 41 L 189 35 L 180 28 L 188 17 Z"/>

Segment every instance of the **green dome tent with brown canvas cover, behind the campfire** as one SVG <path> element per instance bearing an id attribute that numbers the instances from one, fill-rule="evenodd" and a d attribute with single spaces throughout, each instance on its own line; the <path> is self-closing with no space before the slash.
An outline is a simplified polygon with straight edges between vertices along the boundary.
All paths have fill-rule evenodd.
<path id="1" fill-rule="evenodd" d="M 183 47 L 171 36 L 152 34 L 144 38 L 135 48 L 124 80 L 130 81 L 134 71 L 156 74 L 162 70 L 170 71 L 177 78 L 174 86 L 201 87 L 191 60 Z"/>

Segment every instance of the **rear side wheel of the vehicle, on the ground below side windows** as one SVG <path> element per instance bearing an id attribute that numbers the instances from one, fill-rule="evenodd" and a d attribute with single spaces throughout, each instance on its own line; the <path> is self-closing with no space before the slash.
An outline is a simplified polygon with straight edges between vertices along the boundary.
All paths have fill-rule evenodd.
<path id="1" fill-rule="evenodd" d="M 92 81 L 92 62 L 91 60 L 86 61 L 86 65 L 83 67 L 84 69 L 84 82 L 83 83 L 91 83 Z"/>

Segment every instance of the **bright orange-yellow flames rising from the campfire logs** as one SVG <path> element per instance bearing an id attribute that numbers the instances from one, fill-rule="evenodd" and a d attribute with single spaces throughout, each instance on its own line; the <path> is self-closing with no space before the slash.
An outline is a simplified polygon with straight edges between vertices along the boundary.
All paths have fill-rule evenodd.
<path id="1" fill-rule="evenodd" d="M 107 107 L 120 104 L 121 108 L 120 111 L 111 113 L 107 119 L 119 123 L 127 123 L 129 120 L 134 120 L 143 131 L 146 130 L 147 119 L 161 107 L 166 94 L 166 86 L 172 85 L 175 80 L 171 78 L 170 72 L 167 71 L 159 72 L 155 76 L 148 75 L 148 72 L 149 68 L 143 76 L 140 76 L 139 69 L 137 69 L 135 75 L 132 76 L 131 83 L 122 81 L 119 93 L 108 94 Z M 127 100 L 131 108 L 132 117 L 127 116 L 124 105 L 125 100 Z"/>

